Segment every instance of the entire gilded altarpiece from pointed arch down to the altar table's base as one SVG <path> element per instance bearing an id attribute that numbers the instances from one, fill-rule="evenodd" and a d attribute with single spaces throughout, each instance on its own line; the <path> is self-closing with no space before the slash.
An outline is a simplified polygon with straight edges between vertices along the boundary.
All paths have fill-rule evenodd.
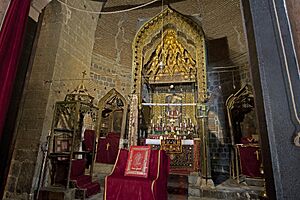
<path id="1" fill-rule="evenodd" d="M 174 169 L 199 170 L 205 58 L 201 27 L 169 7 L 144 24 L 133 42 L 132 95 L 138 99 L 131 109 L 138 110 L 139 123 L 129 120 L 130 130 L 137 130 L 129 132 L 135 138 L 130 145 L 169 150 Z"/>

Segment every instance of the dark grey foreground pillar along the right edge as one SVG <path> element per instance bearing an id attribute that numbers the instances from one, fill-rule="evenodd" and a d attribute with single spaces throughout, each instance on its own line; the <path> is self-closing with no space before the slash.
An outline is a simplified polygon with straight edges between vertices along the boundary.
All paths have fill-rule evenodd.
<path id="1" fill-rule="evenodd" d="M 300 147 L 293 140 L 300 131 L 300 83 L 285 1 L 241 2 L 267 195 L 269 199 L 298 199 Z"/>

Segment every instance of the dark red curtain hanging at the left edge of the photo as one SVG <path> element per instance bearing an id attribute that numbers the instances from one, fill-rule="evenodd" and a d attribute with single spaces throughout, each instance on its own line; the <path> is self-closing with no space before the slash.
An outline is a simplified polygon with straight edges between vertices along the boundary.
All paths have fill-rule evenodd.
<path id="1" fill-rule="evenodd" d="M 0 141 L 22 51 L 31 0 L 11 0 L 0 32 Z"/>

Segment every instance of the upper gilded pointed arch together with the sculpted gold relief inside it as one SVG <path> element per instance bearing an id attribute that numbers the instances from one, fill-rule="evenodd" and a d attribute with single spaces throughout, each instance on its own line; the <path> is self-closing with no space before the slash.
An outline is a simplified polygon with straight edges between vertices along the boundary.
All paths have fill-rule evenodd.
<path id="1" fill-rule="evenodd" d="M 133 94 L 141 93 L 143 78 L 152 83 L 197 82 L 198 103 L 205 102 L 205 39 L 194 21 L 167 7 L 140 28 L 132 48 Z"/>

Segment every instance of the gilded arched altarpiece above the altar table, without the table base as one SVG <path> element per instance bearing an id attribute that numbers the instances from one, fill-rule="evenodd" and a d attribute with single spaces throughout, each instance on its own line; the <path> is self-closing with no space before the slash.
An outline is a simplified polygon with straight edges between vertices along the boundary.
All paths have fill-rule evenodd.
<path id="1" fill-rule="evenodd" d="M 197 137 L 196 105 L 207 99 L 202 28 L 192 19 L 166 7 L 139 29 L 132 48 L 132 97 L 135 99 L 130 106 L 130 145 L 136 143 L 139 126 L 148 126 L 148 134 L 176 132 Z M 142 99 L 146 94 L 142 92 L 145 85 L 151 92 L 149 101 Z M 181 94 L 176 95 L 175 91 Z M 145 105 L 145 102 L 150 104 Z M 139 125 L 143 109 L 146 112 L 143 106 L 152 106 L 152 114 L 148 121 Z"/>

